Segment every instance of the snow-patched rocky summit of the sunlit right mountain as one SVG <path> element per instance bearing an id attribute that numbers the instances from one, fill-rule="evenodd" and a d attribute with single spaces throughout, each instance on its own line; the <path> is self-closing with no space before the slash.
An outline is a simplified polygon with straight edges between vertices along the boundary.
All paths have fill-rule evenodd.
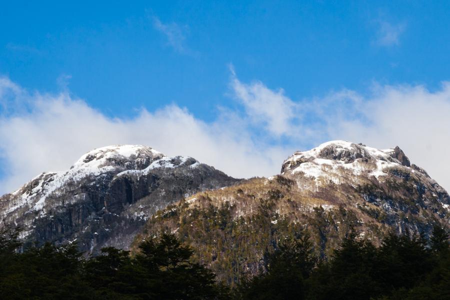
<path id="1" fill-rule="evenodd" d="M 347 204 L 379 211 L 383 222 L 398 232 L 431 230 L 433 216 L 448 223 L 450 197 L 428 174 L 410 163 L 397 146 L 375 149 L 347 141 L 330 141 L 295 152 L 281 167 L 281 175 L 298 188 L 330 199 L 347 194 Z M 345 191 L 345 192 L 343 192 Z"/>

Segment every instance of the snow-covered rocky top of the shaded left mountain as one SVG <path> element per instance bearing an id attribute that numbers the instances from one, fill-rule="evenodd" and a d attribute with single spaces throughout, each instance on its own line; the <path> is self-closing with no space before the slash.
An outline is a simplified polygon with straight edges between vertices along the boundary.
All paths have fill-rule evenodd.
<path id="1" fill-rule="evenodd" d="M 123 176 L 145 176 L 153 169 L 168 169 L 199 165 L 195 159 L 187 156 L 167 157 L 164 154 L 142 145 L 112 145 L 93 149 L 82 155 L 66 171 L 43 172 L 25 183 L 21 188 L 5 198 L 13 198 L 0 210 L 0 216 L 16 209 L 27 207 L 27 211 L 40 211 L 47 198 L 57 198 L 67 190 L 89 181 L 98 184 L 105 178 Z"/>

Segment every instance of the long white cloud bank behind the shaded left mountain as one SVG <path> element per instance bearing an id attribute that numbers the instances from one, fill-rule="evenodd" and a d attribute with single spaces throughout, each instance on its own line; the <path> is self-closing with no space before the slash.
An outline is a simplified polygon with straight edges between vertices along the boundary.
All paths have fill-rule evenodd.
<path id="1" fill-rule="evenodd" d="M 7 172 L 0 180 L 0 194 L 40 172 L 65 170 L 90 149 L 111 144 L 142 144 L 169 156 L 189 155 L 235 177 L 277 173 L 293 151 L 253 142 L 245 127 L 236 128 L 242 120 L 235 122 L 225 114 L 204 123 L 186 109 L 170 105 L 117 119 L 67 93 L 28 94 L 5 78 L 0 92 L 26 102 L 25 110 L 0 117 L 0 155 Z"/>

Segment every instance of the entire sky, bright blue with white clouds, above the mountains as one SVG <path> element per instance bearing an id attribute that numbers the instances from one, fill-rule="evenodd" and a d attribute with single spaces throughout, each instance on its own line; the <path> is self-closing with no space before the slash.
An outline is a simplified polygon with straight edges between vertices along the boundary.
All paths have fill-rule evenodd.
<path id="1" fill-rule="evenodd" d="M 449 9 L 448 1 L 3 1 L 0 193 L 47 168 L 69 166 L 100 142 L 159 146 L 247 177 L 278 172 L 293 150 L 334 138 L 364 139 L 376 147 L 399 144 L 439 182 L 446 180 L 442 162 L 421 157 L 438 151 L 437 139 L 450 138 L 445 120 L 434 124 L 436 113 L 446 113 L 449 105 L 442 83 L 450 80 Z M 57 103 L 63 104 L 52 114 L 42 106 L 56 109 Z M 125 124 L 123 132 L 139 120 L 165 122 L 179 113 L 202 128 L 192 138 L 204 134 L 205 144 L 185 148 L 163 140 L 163 134 L 123 133 L 90 137 L 89 143 L 74 140 L 80 146 L 73 150 L 58 132 L 40 137 L 45 143 L 17 142 L 39 124 L 61 127 L 63 109 L 74 112 L 75 104 L 96 116 L 92 120 L 104 118 L 104 126 Z M 400 111 L 390 114 L 395 107 Z M 407 133 L 417 123 L 415 113 L 428 109 L 420 118 L 430 120 L 424 128 Z M 181 126 L 173 122 L 151 130 Z M 416 146 L 417 134 L 435 130 L 423 147 Z M 240 149 L 260 161 L 227 169 L 220 165 L 225 154 L 201 152 L 211 143 L 217 147 L 212 149 L 235 143 L 227 153 Z M 23 147 L 39 153 L 42 163 L 29 168 L 29 156 L 17 166 L 13 154 Z M 52 151 L 59 153 L 57 163 Z M 241 170 L 264 163 L 261 170 Z M 445 184 L 450 187 L 450 181 Z"/>

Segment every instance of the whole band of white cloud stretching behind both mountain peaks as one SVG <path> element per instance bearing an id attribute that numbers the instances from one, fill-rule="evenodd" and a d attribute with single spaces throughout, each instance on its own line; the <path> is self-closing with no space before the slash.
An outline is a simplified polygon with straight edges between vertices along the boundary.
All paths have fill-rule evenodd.
<path id="1" fill-rule="evenodd" d="M 450 83 L 433 92 L 420 85 L 376 86 L 368 96 L 342 90 L 301 101 L 259 81 L 243 83 L 234 73 L 229 87 L 242 109 L 223 110 L 206 123 L 177 105 L 109 118 L 68 92 L 30 93 L 0 78 L 0 194 L 40 172 L 65 170 L 105 145 L 148 145 L 169 156 L 192 156 L 234 177 L 251 177 L 277 174 L 293 151 L 330 139 L 398 145 L 450 189 Z"/>

